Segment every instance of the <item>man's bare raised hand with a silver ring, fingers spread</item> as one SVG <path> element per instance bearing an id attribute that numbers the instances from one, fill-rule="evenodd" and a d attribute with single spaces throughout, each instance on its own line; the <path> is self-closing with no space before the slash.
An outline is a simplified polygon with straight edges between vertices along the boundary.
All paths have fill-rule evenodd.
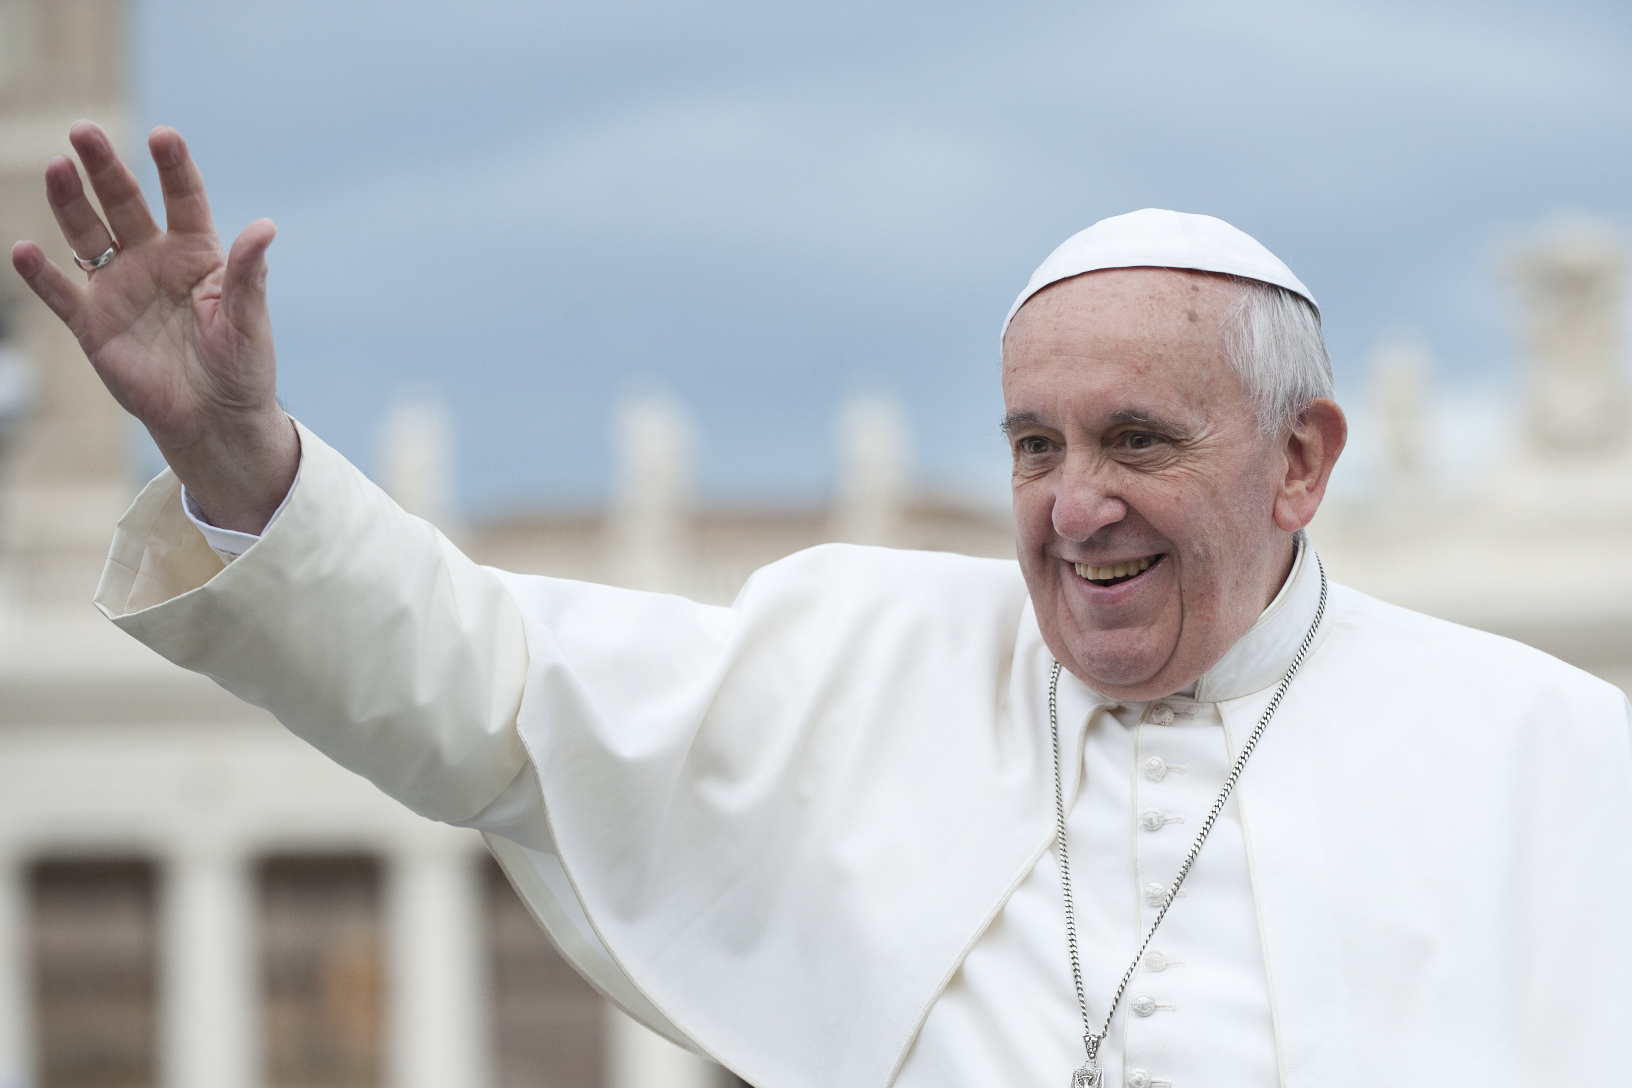
<path id="1" fill-rule="evenodd" d="M 83 285 L 33 241 L 13 246 L 11 264 L 78 338 L 211 524 L 258 533 L 300 463 L 300 439 L 276 400 L 266 312 L 266 248 L 276 227 L 258 219 L 224 251 L 204 178 L 175 129 L 153 129 L 147 140 L 166 230 L 100 127 L 82 121 L 69 139 L 108 222 L 64 157 L 46 166 L 51 210 L 82 259 L 111 246 L 118 253 Z"/>

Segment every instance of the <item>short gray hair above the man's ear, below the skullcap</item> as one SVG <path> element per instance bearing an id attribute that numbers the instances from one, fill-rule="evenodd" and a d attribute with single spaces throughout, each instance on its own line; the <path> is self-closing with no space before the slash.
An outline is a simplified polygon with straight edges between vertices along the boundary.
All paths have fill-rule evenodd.
<path id="1" fill-rule="evenodd" d="M 1332 357 L 1320 313 L 1284 287 L 1231 276 L 1240 287 L 1224 315 L 1224 351 L 1258 413 L 1262 434 L 1297 426 L 1309 403 L 1332 396 Z"/>

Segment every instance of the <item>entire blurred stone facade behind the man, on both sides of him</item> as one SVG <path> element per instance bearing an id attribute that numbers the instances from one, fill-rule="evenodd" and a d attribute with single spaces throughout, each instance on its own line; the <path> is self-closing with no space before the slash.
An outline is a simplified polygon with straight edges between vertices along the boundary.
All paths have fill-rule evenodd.
<path id="1" fill-rule="evenodd" d="M 41 165 L 122 124 L 119 0 L 0 0 L 0 225 L 67 264 Z M 116 135 L 116 139 L 119 139 Z M 1387 480 L 1328 509 L 1337 579 L 1632 685 L 1632 449 L 1621 250 L 1577 225 L 1516 258 L 1526 422 L 1474 489 L 1433 475 L 1425 364 L 1377 360 Z M 55 318 L 0 290 L 0 1088 L 703 1088 L 715 1067 L 583 984 L 486 858 L 173 669 L 88 599 L 132 494 L 127 424 Z M 911 484 L 888 398 L 836 426 L 826 509 L 715 509 L 663 396 L 610 421 L 609 509 L 452 517 L 434 398 L 382 431 L 380 481 L 494 566 L 730 602 L 826 540 L 1012 556 L 1009 522 Z"/>

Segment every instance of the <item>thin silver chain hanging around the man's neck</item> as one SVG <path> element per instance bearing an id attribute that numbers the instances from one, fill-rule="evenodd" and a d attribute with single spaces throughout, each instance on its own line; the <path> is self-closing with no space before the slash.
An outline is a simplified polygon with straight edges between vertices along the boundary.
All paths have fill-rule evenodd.
<path id="1" fill-rule="evenodd" d="M 1310 555 L 1314 555 L 1310 551 Z M 1208 812 L 1208 819 L 1201 824 L 1201 830 L 1196 832 L 1196 840 L 1190 843 L 1190 851 L 1185 855 L 1183 865 L 1178 866 L 1178 876 L 1173 878 L 1173 884 L 1167 889 L 1167 897 L 1162 900 L 1162 909 L 1155 912 L 1155 922 L 1151 923 L 1149 931 L 1144 935 L 1144 941 L 1139 943 L 1139 951 L 1134 953 L 1133 962 L 1128 964 L 1128 971 L 1123 972 L 1123 980 L 1116 984 L 1116 995 L 1111 997 L 1110 1008 L 1105 1010 L 1105 1023 L 1100 1024 L 1098 1031 L 1093 1031 L 1093 1021 L 1089 1018 L 1089 998 L 1082 993 L 1082 962 L 1077 958 L 1077 910 L 1071 902 L 1071 855 L 1066 850 L 1066 788 L 1059 773 L 1059 662 L 1054 662 L 1054 672 L 1048 679 L 1048 728 L 1054 736 L 1054 819 L 1058 820 L 1058 837 L 1059 837 L 1059 886 L 1066 897 L 1066 946 L 1071 949 L 1071 977 L 1077 984 L 1077 1008 L 1082 1010 L 1082 1046 L 1089 1052 L 1089 1060 L 1082 1064 L 1071 1078 L 1071 1088 L 1103 1088 L 1105 1070 L 1098 1065 L 1100 1059 L 1100 1042 L 1105 1039 L 1106 1033 L 1111 1029 L 1111 1018 L 1116 1015 L 1116 1006 L 1121 1003 L 1123 993 L 1128 992 L 1128 984 L 1133 982 L 1134 972 L 1139 971 L 1139 962 L 1144 959 L 1144 953 L 1151 948 L 1151 940 L 1155 936 L 1155 930 L 1162 925 L 1162 918 L 1167 917 L 1167 909 L 1173 905 L 1173 899 L 1178 896 L 1178 887 L 1190 876 L 1190 866 L 1196 863 L 1196 856 L 1201 853 L 1201 845 L 1208 840 L 1208 834 L 1213 830 L 1213 824 L 1217 822 L 1219 814 L 1224 811 L 1224 803 L 1229 801 L 1229 794 L 1235 789 L 1235 783 L 1240 780 L 1242 770 L 1247 767 L 1247 760 L 1252 759 L 1253 749 L 1258 747 L 1258 739 L 1263 736 L 1265 726 L 1275 718 L 1275 711 L 1281 706 L 1281 698 L 1286 695 L 1286 688 L 1293 685 L 1293 677 L 1297 675 L 1297 667 L 1304 664 L 1304 657 L 1309 656 L 1309 648 L 1315 641 L 1315 631 L 1320 630 L 1320 620 L 1325 617 L 1325 600 L 1327 600 L 1327 581 L 1325 581 L 1325 564 L 1320 563 L 1320 556 L 1314 556 L 1315 568 L 1320 571 L 1320 605 L 1315 608 L 1315 621 L 1309 625 L 1309 633 L 1304 635 L 1302 644 L 1297 648 L 1297 656 L 1293 657 L 1291 667 L 1286 675 L 1281 677 L 1281 685 L 1275 688 L 1275 697 L 1270 698 L 1270 705 L 1263 708 L 1263 716 L 1258 718 L 1257 728 L 1252 736 L 1247 737 L 1247 744 L 1242 745 L 1240 755 L 1235 757 L 1234 767 L 1229 768 L 1229 775 L 1224 776 L 1224 788 L 1219 789 L 1217 801 L 1213 803 L 1213 809 Z"/>

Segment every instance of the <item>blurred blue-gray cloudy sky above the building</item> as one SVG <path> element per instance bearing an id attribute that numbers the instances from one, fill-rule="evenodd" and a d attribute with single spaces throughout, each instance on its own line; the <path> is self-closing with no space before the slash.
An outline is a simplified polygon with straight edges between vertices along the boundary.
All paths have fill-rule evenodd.
<path id="1" fill-rule="evenodd" d="M 849 390 L 906 405 L 927 484 L 1000 494 L 1009 303 L 1152 206 L 1291 264 L 1358 419 L 1368 354 L 1418 338 L 1479 457 L 1500 253 L 1632 225 L 1624 2 L 134 0 L 132 51 L 222 232 L 279 223 L 290 411 L 369 468 L 434 390 L 478 517 L 597 502 L 641 387 L 695 414 L 713 501 L 819 499 Z"/>

